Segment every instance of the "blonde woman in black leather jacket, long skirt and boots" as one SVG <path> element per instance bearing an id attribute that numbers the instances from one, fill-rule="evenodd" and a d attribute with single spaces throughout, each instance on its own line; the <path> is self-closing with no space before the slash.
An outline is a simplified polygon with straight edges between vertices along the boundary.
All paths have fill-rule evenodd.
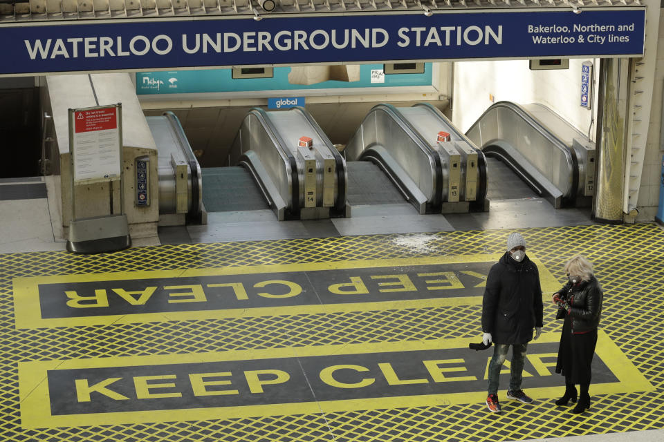
<path id="1" fill-rule="evenodd" d="M 590 407 L 588 388 L 603 294 L 593 276 L 593 265 L 583 256 L 571 258 L 565 265 L 565 273 L 567 283 L 553 294 L 553 302 L 558 306 L 555 318 L 564 318 L 555 372 L 565 376 L 565 394 L 555 405 L 564 406 L 570 400 L 576 402 L 575 384 L 578 384 L 579 401 L 572 410 L 578 414 Z"/>

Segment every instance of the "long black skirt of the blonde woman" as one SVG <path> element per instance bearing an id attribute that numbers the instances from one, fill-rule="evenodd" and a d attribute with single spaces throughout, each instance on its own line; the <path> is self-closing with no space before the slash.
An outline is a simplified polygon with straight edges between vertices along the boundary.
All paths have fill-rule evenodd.
<path id="1" fill-rule="evenodd" d="M 566 314 L 560 334 L 555 372 L 562 374 L 566 381 L 573 384 L 589 384 L 596 345 L 597 329 L 588 333 L 572 334 L 571 319 Z"/>

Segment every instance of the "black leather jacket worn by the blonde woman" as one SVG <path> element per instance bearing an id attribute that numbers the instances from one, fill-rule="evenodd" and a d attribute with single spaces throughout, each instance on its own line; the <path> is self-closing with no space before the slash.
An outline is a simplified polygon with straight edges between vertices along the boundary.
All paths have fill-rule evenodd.
<path id="1" fill-rule="evenodd" d="M 600 325 L 604 294 L 594 276 L 578 285 L 567 282 L 557 293 L 560 294 L 560 299 L 567 301 L 569 305 L 573 333 L 591 332 Z M 566 311 L 559 310 L 555 318 L 564 318 L 566 314 Z"/>

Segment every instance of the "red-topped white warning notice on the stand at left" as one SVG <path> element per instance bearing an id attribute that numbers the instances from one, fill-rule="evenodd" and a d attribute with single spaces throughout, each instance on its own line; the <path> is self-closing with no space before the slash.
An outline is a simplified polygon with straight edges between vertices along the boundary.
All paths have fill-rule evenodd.
<path id="1" fill-rule="evenodd" d="M 74 181 L 107 181 L 120 178 L 118 108 L 77 109 L 72 113 Z"/>

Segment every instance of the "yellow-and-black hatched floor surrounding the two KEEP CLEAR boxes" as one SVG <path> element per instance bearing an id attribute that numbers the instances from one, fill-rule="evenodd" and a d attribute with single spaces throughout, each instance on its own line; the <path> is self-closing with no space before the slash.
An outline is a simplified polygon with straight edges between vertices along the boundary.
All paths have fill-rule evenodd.
<path id="1" fill-rule="evenodd" d="M 432 233 L 425 252 L 404 247 L 407 235 L 382 235 L 142 247 L 97 256 L 16 253 L 0 256 L 0 439 L 461 442 L 664 428 L 664 231 L 654 224 L 519 231 L 528 241 L 528 251 L 561 281 L 564 262 L 573 253 L 583 253 L 595 263 L 605 289 L 601 327 L 652 383 L 654 391 L 593 395 L 591 411 L 581 416 L 561 412 L 553 401 L 537 401 L 501 416 L 488 414 L 483 403 L 474 403 L 324 416 L 24 430 L 19 411 L 19 361 L 468 338 L 479 336 L 481 306 L 16 330 L 12 278 L 500 253 L 509 231 Z M 560 329 L 554 313 L 553 306 L 545 307 L 545 329 Z"/>

